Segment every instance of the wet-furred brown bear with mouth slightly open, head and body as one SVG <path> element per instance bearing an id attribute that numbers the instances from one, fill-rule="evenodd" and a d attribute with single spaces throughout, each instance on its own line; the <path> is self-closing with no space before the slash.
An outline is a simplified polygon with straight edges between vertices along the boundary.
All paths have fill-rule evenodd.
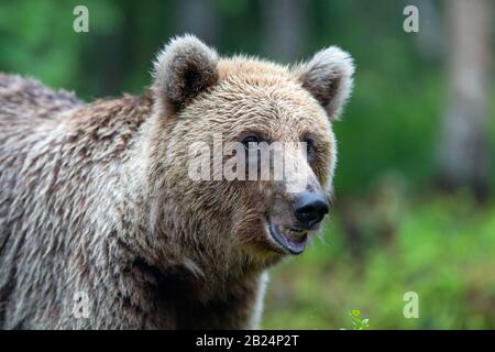
<path id="1" fill-rule="evenodd" d="M 0 75 L 0 328 L 255 328 L 266 271 L 328 212 L 353 70 L 338 47 L 286 67 L 185 35 L 140 96 L 85 103 Z M 191 179 L 190 147 L 213 134 L 304 142 L 287 152 L 304 189 L 287 191 L 293 166 Z"/>

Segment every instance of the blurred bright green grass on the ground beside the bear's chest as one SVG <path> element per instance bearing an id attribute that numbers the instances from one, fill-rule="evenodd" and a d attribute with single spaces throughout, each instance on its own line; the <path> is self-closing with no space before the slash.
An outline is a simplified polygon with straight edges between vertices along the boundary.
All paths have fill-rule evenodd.
<path id="1" fill-rule="evenodd" d="M 372 329 L 494 329 L 494 205 L 462 194 L 398 198 L 363 207 L 360 251 L 337 216 L 322 241 L 275 268 L 263 328 L 348 328 L 360 307 Z M 407 292 L 419 296 L 418 319 L 403 315 Z"/>

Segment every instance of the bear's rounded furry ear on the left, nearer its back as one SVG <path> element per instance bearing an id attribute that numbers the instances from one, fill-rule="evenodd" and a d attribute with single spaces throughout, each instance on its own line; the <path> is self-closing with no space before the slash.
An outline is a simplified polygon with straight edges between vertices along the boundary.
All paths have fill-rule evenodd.
<path id="1" fill-rule="evenodd" d="M 154 63 L 153 90 L 163 105 L 179 110 L 218 81 L 218 54 L 194 35 L 170 40 Z"/>

